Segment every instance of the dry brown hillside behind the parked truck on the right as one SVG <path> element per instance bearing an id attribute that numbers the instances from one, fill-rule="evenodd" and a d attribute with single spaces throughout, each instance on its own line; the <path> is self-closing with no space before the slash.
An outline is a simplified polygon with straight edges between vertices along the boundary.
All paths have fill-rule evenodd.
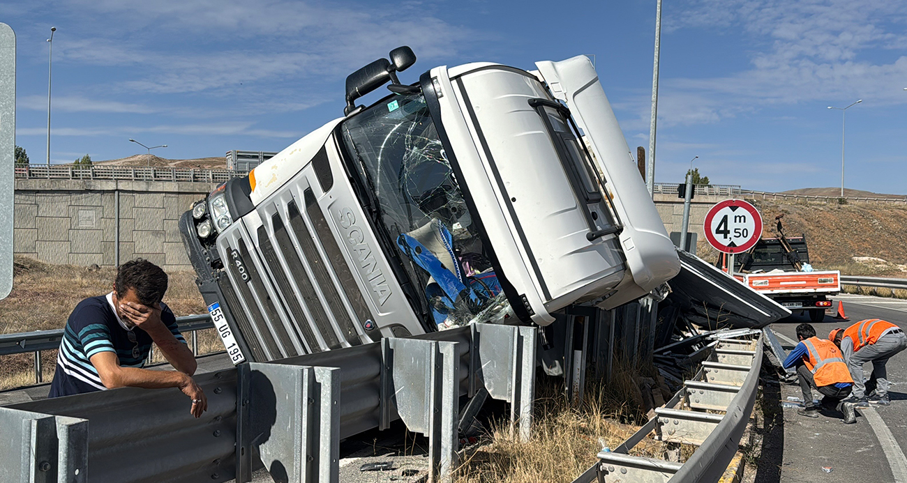
<path id="1" fill-rule="evenodd" d="M 780 214 L 785 215 L 787 235 L 805 234 L 810 262 L 817 269 L 907 277 L 907 206 L 750 201 L 762 213 L 763 236 L 775 237 L 775 217 Z"/>

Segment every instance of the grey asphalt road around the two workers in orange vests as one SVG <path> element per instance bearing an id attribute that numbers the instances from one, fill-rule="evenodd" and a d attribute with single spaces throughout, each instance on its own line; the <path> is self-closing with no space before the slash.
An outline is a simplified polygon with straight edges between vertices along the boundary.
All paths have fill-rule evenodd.
<path id="1" fill-rule="evenodd" d="M 881 318 L 907 329 L 907 300 L 863 295 L 841 295 L 835 300 L 844 301 L 844 311 L 850 321 L 838 321 L 831 316 L 837 310 L 835 304 L 822 324 L 813 324 L 820 337 L 827 337 L 835 327 L 846 328 L 869 318 Z M 773 324 L 772 328 L 775 333 L 796 340 L 795 327 L 804 322 L 809 323 L 808 316 L 795 314 Z M 780 342 L 787 351 L 794 348 L 794 343 L 783 337 Z M 907 351 L 892 357 L 887 367 L 892 382 L 892 405 L 873 405 L 870 410 L 858 410 L 856 424 L 845 425 L 834 411 L 826 412 L 819 419 L 809 419 L 797 415 L 796 408 L 783 408 L 783 418 L 775 421 L 780 428 L 771 432 L 776 440 L 775 449 L 783 448 L 782 454 L 764 455 L 756 481 L 907 483 L 907 479 L 901 479 L 907 476 L 907 459 L 903 459 L 907 452 Z M 867 377 L 871 370 L 872 365 L 867 364 Z M 781 382 L 777 389 L 781 401 L 801 397 L 797 384 Z M 771 391 L 772 388 L 766 386 L 766 396 Z M 814 392 L 814 396 L 818 393 Z M 764 468 L 764 465 L 780 465 L 780 471 Z M 762 478 L 759 478 L 759 472 Z M 895 478 L 895 475 L 901 478 Z"/>

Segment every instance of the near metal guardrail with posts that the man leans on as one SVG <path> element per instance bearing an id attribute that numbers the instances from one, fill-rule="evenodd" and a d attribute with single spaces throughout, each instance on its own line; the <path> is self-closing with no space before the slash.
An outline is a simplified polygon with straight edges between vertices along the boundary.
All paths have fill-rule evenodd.
<path id="1" fill-rule="evenodd" d="M 0 480 L 243 483 L 264 464 L 278 481 L 336 482 L 341 438 L 400 419 L 428 437 L 438 481 L 456 464 L 460 396 L 509 402 L 528 439 L 535 362 L 536 328 L 473 324 L 201 374 L 198 420 L 176 389 L 24 402 L 0 408 Z"/>

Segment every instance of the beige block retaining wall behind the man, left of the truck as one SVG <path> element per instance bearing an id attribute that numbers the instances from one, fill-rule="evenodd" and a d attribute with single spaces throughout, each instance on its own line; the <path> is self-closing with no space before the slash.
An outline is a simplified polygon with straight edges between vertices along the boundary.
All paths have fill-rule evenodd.
<path id="1" fill-rule="evenodd" d="M 215 185 L 161 181 L 16 179 L 14 252 L 51 264 L 113 266 L 120 197 L 120 263 L 147 258 L 191 269 L 178 220 Z"/>

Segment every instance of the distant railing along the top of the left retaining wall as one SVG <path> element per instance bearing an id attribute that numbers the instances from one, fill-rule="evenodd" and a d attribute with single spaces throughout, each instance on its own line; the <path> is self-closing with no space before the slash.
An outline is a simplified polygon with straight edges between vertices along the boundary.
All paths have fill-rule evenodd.
<path id="1" fill-rule="evenodd" d="M 118 179 L 124 181 L 180 181 L 219 183 L 241 178 L 249 171 L 234 169 L 159 168 L 152 166 L 15 165 L 16 179 Z"/>

